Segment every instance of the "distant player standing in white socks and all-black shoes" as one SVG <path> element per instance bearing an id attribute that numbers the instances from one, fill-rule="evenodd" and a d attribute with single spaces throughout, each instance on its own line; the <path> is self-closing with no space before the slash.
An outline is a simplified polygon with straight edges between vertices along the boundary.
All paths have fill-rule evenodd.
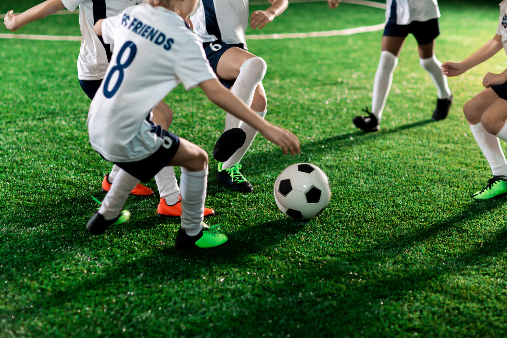
<path id="1" fill-rule="evenodd" d="M 336 8 L 341 0 L 328 0 Z M 437 87 L 437 107 L 433 121 L 447 117 L 452 104 L 452 93 L 441 63 L 434 55 L 435 39 L 440 35 L 437 0 L 387 0 L 386 25 L 382 37 L 382 52 L 373 82 L 372 111 L 368 116 L 356 116 L 354 125 L 366 132 L 380 130 L 380 119 L 392 84 L 392 75 L 405 38 L 411 33 L 417 41 L 419 62 Z"/>

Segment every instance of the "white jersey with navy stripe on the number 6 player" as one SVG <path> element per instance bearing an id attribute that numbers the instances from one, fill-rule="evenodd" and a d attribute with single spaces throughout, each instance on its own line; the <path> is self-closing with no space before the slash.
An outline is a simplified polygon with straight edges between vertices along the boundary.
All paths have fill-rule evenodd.
<path id="1" fill-rule="evenodd" d="M 202 43 L 243 44 L 248 25 L 248 0 L 199 0 L 190 17 Z"/>

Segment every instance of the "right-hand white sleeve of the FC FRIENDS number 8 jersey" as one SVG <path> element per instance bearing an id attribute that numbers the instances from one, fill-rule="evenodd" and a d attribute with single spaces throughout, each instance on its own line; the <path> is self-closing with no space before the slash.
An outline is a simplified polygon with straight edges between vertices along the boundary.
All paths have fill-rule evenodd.
<path id="1" fill-rule="evenodd" d="M 174 71 L 187 90 L 196 87 L 203 81 L 216 79 L 204 54 L 204 49 L 195 37 L 189 39 L 182 47 Z"/>

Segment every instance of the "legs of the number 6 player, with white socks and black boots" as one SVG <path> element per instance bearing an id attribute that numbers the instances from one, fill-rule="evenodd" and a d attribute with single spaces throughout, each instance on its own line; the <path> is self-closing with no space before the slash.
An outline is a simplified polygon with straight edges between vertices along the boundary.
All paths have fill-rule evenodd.
<path id="1" fill-rule="evenodd" d="M 259 116 L 264 118 L 267 113 L 267 98 L 262 79 L 266 72 L 263 59 L 241 48 L 233 47 L 224 52 L 218 65 L 216 75 L 224 80 L 236 79 L 231 91 L 239 96 L 243 102 Z M 231 189 L 240 192 L 252 192 L 253 187 L 239 172 L 239 162 L 257 135 L 257 130 L 233 115 L 226 113 L 225 131 L 241 128 L 246 133 L 243 145 L 237 149 L 225 162 L 219 163 L 217 179 L 227 184 Z M 216 147 L 215 147 L 216 149 Z"/>

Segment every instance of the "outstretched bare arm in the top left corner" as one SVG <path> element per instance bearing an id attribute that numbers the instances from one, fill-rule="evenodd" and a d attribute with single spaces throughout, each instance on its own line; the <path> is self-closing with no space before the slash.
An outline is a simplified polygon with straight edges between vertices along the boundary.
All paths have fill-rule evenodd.
<path id="1" fill-rule="evenodd" d="M 61 11 L 64 8 L 65 6 L 61 0 L 47 0 L 19 15 L 14 15 L 14 11 L 9 11 L 4 18 L 5 27 L 9 30 L 15 31 L 27 23 L 45 18 L 48 15 Z"/>

